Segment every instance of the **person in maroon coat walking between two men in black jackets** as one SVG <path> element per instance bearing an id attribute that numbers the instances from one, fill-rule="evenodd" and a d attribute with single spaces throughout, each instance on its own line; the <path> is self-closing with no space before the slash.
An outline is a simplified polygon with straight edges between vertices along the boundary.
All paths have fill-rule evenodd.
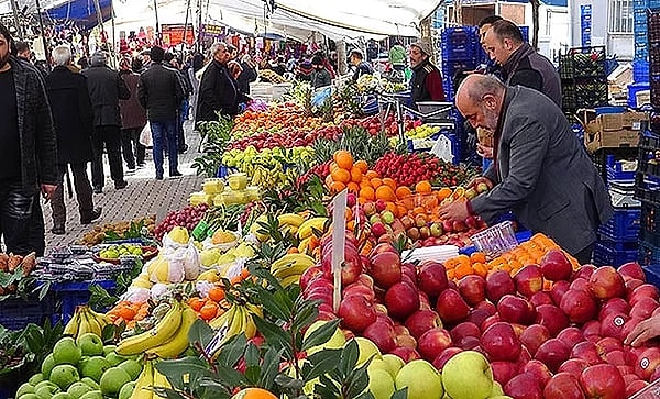
<path id="1" fill-rule="evenodd" d="M 138 81 L 140 80 L 140 75 L 136 71 L 141 69 L 142 60 L 140 58 L 135 58 L 133 62 L 129 58 L 123 58 L 119 63 L 119 76 L 131 92 L 131 98 L 119 101 L 121 113 L 121 153 L 129 171 L 144 167 L 146 153 L 146 147 L 140 143 L 140 134 L 144 125 L 146 125 L 146 112 L 138 100 Z"/>

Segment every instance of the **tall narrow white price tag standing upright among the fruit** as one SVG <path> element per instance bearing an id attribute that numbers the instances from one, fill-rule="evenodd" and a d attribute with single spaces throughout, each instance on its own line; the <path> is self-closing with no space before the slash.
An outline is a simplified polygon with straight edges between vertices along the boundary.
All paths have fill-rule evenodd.
<path id="1" fill-rule="evenodd" d="M 332 276 L 334 292 L 332 303 L 334 313 L 339 311 L 341 301 L 341 266 L 344 262 L 346 243 L 346 196 L 348 190 L 338 193 L 332 200 Z"/>

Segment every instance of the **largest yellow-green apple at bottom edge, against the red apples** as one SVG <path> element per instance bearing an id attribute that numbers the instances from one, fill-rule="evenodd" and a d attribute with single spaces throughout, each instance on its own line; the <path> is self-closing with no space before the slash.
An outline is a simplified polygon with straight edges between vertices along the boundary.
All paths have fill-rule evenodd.
<path id="1" fill-rule="evenodd" d="M 464 351 L 447 362 L 442 383 L 452 398 L 484 399 L 493 391 L 493 370 L 484 355 Z"/>

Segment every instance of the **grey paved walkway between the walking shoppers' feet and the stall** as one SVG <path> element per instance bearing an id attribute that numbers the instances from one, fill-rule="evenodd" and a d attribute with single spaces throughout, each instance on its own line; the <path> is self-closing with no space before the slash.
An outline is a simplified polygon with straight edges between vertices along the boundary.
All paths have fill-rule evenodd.
<path id="1" fill-rule="evenodd" d="M 188 151 L 178 157 L 179 171 L 184 175 L 179 178 L 167 177 L 167 159 L 165 159 L 165 178 L 156 180 L 156 171 L 147 151 L 146 166 L 138 169 L 134 175 L 127 175 L 129 186 L 121 190 L 114 189 L 114 182 L 110 178 L 110 169 L 105 165 L 106 187 L 103 192 L 94 195 L 95 207 L 103 207 L 103 214 L 94 224 L 81 225 L 78 214 L 76 198 L 66 198 L 67 222 L 66 234 L 55 235 L 51 233 L 53 220 L 51 218 L 51 206 L 43 206 L 44 220 L 46 223 L 46 253 L 48 248 L 76 242 L 82 234 L 94 228 L 95 224 L 131 220 L 138 217 L 156 214 L 161 221 L 168 211 L 182 209 L 186 206 L 190 192 L 200 191 L 204 177 L 196 175 L 191 168 L 193 162 L 199 156 L 199 135 L 191 131 L 193 122 L 186 122 L 186 141 Z M 125 164 L 124 164 L 125 173 Z M 91 175 L 90 175 L 91 176 Z M 67 190 L 68 191 L 68 190 Z M 67 193 L 68 196 L 68 193 Z"/>

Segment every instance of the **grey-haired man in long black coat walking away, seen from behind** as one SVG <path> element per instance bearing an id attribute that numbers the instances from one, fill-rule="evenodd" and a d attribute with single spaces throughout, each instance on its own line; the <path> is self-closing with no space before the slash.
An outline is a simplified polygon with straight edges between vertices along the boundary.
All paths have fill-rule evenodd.
<path id="1" fill-rule="evenodd" d="M 59 181 L 51 201 L 53 209 L 51 231 L 53 234 L 64 234 L 66 223 L 64 176 L 69 165 L 74 175 L 80 223 L 89 224 L 99 219 L 101 208 L 94 207 L 91 185 L 87 177 L 87 163 L 92 156 L 91 132 L 94 131 L 94 110 L 87 79 L 68 68 L 72 63 L 72 51 L 68 46 L 53 48 L 52 56 L 55 68 L 46 77 L 46 91 L 57 135 Z"/>

